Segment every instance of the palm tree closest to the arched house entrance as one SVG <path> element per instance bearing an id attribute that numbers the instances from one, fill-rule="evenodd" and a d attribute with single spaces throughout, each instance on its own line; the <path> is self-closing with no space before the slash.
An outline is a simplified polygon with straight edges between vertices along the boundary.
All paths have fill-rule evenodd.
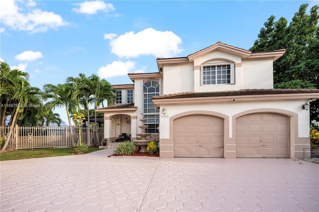
<path id="1" fill-rule="evenodd" d="M 96 109 L 99 105 L 103 105 L 103 102 L 107 100 L 108 105 L 111 105 L 111 103 L 115 99 L 115 90 L 113 89 L 112 85 L 95 75 L 92 74 L 90 77 L 90 80 L 92 84 L 94 85 L 92 87 L 92 93 L 93 98 L 91 99 L 91 102 L 94 103 L 94 122 L 95 122 L 95 132 L 96 132 L 96 139 L 99 141 L 99 134 L 98 134 L 98 124 L 97 124 L 97 117 L 96 117 Z"/>

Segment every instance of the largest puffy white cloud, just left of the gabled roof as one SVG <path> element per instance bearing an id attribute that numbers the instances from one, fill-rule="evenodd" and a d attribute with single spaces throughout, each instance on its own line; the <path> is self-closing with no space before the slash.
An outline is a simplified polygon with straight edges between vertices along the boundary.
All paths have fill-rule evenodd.
<path id="1" fill-rule="evenodd" d="M 147 28 L 134 33 L 127 32 L 110 41 L 112 53 L 119 57 L 138 57 L 154 55 L 155 57 L 173 57 L 182 51 L 179 48 L 181 38 L 171 31 L 156 31 Z"/>

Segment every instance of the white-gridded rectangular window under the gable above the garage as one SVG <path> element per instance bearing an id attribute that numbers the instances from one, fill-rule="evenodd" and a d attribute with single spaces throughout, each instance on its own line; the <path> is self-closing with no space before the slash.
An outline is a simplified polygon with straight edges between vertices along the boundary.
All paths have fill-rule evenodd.
<path id="1" fill-rule="evenodd" d="M 202 65 L 202 85 L 235 84 L 234 64 Z"/>

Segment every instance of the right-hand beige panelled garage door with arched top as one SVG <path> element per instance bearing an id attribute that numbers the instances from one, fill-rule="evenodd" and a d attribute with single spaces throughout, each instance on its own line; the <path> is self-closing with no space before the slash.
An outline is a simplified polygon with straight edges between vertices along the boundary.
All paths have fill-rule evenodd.
<path id="1" fill-rule="evenodd" d="M 289 157 L 289 117 L 252 113 L 236 119 L 237 157 Z"/>

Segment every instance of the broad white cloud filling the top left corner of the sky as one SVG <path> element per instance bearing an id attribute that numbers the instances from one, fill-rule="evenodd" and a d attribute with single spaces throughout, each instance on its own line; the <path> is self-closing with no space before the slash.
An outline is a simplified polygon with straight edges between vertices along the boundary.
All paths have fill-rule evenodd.
<path id="1" fill-rule="evenodd" d="M 18 4 L 23 5 L 19 7 Z M 26 30 L 32 33 L 68 25 L 60 15 L 53 12 L 42 11 L 38 8 L 30 10 L 28 7 L 35 6 L 35 2 L 32 0 L 26 2 L 27 7 L 25 7 L 24 4 L 25 2 L 16 0 L 1 1 L 1 23 L 14 30 Z"/>

